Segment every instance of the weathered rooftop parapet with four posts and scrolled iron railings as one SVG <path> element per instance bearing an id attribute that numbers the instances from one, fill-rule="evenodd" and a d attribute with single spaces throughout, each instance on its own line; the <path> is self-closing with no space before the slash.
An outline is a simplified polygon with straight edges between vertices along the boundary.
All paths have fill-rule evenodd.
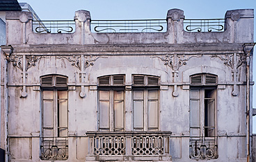
<path id="1" fill-rule="evenodd" d="M 172 9 L 168 10 L 166 20 L 133 20 L 125 21 L 125 25 L 111 21 L 111 26 L 107 24 L 104 27 L 97 25 L 104 24 L 102 21 L 91 19 L 89 11 L 78 10 L 75 12 L 74 21 L 67 21 L 67 30 L 58 30 L 63 26 L 61 21 L 61 24 L 52 27 L 57 28 L 56 33 L 47 27 L 47 23 L 40 27 L 43 28 L 41 33 L 35 33 L 37 29 L 33 25 L 31 13 L 16 11 L 6 13 L 6 37 L 7 44 L 244 43 L 253 42 L 253 17 L 253 9 L 243 9 L 228 10 L 225 19 L 185 19 L 183 10 Z M 98 33 L 93 33 L 93 30 Z"/>

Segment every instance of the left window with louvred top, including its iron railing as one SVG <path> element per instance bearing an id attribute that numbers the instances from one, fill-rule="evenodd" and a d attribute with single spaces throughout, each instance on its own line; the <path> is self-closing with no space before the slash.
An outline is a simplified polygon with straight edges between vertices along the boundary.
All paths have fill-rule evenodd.
<path id="1" fill-rule="evenodd" d="M 67 78 L 46 75 L 40 78 L 42 89 L 42 160 L 66 160 L 68 133 Z"/>

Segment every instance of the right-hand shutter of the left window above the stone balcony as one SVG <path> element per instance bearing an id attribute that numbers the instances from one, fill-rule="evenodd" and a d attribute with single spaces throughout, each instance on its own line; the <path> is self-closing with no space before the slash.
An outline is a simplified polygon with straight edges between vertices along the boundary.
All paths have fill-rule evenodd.
<path id="1" fill-rule="evenodd" d="M 114 130 L 124 130 L 124 91 L 113 91 Z"/>

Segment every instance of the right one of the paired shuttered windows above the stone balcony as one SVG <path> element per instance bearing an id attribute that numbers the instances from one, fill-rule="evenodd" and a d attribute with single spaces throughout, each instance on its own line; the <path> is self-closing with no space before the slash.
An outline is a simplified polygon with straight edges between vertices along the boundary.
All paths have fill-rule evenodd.
<path id="1" fill-rule="evenodd" d="M 159 129 L 159 78 L 133 75 L 134 131 Z"/>

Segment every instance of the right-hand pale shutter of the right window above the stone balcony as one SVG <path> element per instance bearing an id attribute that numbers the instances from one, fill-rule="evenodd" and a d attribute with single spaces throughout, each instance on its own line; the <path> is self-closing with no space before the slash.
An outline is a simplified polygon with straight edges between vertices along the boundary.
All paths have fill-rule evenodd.
<path id="1" fill-rule="evenodd" d="M 158 129 L 159 116 L 158 90 L 148 90 L 147 93 L 147 123 L 148 129 Z"/>

